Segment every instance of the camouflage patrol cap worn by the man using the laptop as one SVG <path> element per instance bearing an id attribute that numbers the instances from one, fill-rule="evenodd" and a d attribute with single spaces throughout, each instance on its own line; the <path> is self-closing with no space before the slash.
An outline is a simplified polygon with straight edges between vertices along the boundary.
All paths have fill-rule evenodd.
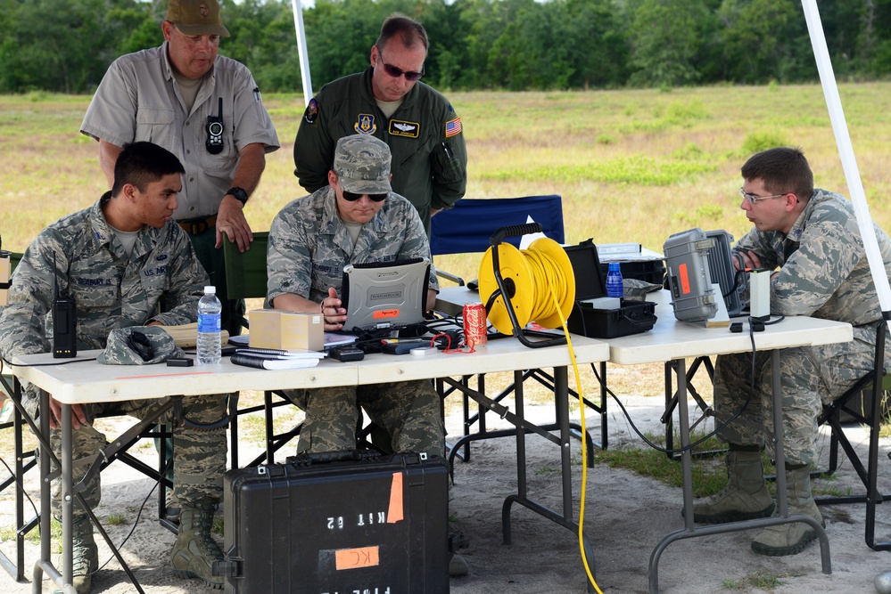
<path id="1" fill-rule="evenodd" d="M 337 141 L 334 173 L 346 191 L 384 194 L 390 187 L 390 147 L 369 134 L 352 134 Z"/>

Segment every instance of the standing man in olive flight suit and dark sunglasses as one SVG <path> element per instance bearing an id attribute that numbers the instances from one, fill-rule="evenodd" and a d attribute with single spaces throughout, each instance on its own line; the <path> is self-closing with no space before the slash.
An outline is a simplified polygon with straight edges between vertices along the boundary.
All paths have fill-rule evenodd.
<path id="1" fill-rule="evenodd" d="M 421 82 L 428 41 L 424 27 L 393 14 L 371 46 L 364 72 L 338 78 L 309 101 L 294 142 L 294 175 L 309 192 L 328 183 L 334 145 L 369 134 L 392 151 L 393 191 L 430 217 L 464 197 L 467 151 L 461 118 L 450 102 Z"/>

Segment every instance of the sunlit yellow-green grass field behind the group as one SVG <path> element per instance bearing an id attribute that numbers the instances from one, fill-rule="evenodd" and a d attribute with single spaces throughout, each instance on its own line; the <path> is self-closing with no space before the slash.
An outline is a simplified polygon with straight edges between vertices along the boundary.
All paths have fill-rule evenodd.
<path id="1" fill-rule="evenodd" d="M 874 218 L 891 229 L 891 83 L 840 85 Z M 563 196 L 567 242 L 637 241 L 662 249 L 691 227 L 747 232 L 739 211 L 739 167 L 755 151 L 799 145 L 819 187 L 847 192 L 820 85 L 716 86 L 573 93 L 449 94 L 464 122 L 468 197 Z M 97 143 L 78 133 L 89 97 L 0 96 L 0 235 L 22 251 L 46 224 L 87 207 L 106 189 Z M 268 95 L 282 148 L 268 156 L 246 215 L 266 230 L 305 194 L 293 176 L 300 95 Z M 475 278 L 480 256 L 437 264 Z M 661 394 L 662 370 L 613 381 Z"/>

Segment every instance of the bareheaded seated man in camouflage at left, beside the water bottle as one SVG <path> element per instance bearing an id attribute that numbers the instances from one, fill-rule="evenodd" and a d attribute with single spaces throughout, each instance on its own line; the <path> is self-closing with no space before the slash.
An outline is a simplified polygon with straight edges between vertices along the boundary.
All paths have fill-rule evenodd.
<path id="1" fill-rule="evenodd" d="M 151 142 L 134 142 L 121 152 L 114 185 L 92 207 L 65 216 L 37 236 L 16 268 L 9 305 L 0 315 L 0 354 L 7 360 L 52 348 L 49 319 L 54 287 L 73 295 L 77 304 L 78 349 L 104 348 L 111 330 L 132 326 L 194 322 L 207 273 L 194 255 L 186 232 L 171 219 L 184 173 L 179 159 Z M 164 299 L 167 311 L 159 313 Z M 26 387 L 25 405 L 37 413 L 36 387 Z M 93 427 L 102 413 L 144 417 L 156 411 L 153 400 L 72 406 L 75 460 L 95 454 L 106 443 Z M 184 399 L 187 419 L 209 423 L 225 414 L 222 395 Z M 61 405 L 50 395 L 51 440 L 61 455 L 58 428 Z M 161 421 L 164 419 L 162 418 Z M 170 419 L 169 419 L 170 420 Z M 210 538 L 213 509 L 221 499 L 226 469 L 226 432 L 174 429 L 174 491 L 184 503 L 173 549 L 174 572 L 198 577 L 215 588 L 222 579 L 210 566 L 222 559 Z M 75 482 L 85 467 L 75 469 Z M 82 492 L 91 509 L 99 504 L 99 476 Z M 53 509 L 61 516 L 61 484 L 54 482 Z M 79 504 L 74 508 L 74 586 L 91 587 L 98 567 L 93 526 Z"/>

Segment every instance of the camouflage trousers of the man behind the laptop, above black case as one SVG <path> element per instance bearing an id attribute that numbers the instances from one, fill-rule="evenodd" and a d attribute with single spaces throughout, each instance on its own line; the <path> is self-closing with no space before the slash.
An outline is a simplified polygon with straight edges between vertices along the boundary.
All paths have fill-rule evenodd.
<path id="1" fill-rule="evenodd" d="M 356 448 L 361 409 L 391 435 L 393 452 L 445 455 L 440 395 L 429 380 L 285 390 L 306 412 L 297 452 Z"/>

